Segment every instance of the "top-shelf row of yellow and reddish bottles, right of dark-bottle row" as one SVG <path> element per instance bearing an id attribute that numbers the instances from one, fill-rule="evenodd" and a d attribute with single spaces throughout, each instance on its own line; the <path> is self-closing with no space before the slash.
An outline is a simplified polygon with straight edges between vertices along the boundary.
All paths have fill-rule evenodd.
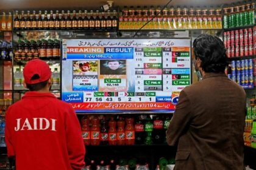
<path id="1" fill-rule="evenodd" d="M 150 21 L 148 24 L 146 24 Z M 146 24 L 144 27 L 143 25 Z M 190 7 L 161 9 L 161 7 L 124 7 L 119 16 L 119 29 L 221 29 L 221 9 Z"/>

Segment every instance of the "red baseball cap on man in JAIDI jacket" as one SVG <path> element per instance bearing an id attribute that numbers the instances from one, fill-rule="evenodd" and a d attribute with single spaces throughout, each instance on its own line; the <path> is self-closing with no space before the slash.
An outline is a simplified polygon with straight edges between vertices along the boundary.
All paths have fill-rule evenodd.
<path id="1" fill-rule="evenodd" d="M 34 75 L 38 75 L 38 78 L 31 80 Z M 27 84 L 36 84 L 51 78 L 52 72 L 47 63 L 42 60 L 35 59 L 27 62 L 23 69 L 24 81 Z"/>

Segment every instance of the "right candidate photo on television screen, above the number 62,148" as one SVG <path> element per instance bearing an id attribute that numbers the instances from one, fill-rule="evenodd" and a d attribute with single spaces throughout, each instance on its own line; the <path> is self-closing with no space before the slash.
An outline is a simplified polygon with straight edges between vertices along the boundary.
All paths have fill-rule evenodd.
<path id="1" fill-rule="evenodd" d="M 126 60 L 100 60 L 101 75 L 126 75 Z"/>

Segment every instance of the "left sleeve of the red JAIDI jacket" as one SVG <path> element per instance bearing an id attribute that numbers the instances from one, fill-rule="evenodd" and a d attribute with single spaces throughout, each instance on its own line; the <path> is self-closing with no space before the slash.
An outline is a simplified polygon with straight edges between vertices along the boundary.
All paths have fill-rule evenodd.
<path id="1" fill-rule="evenodd" d="M 10 124 L 10 108 L 7 110 L 5 117 L 5 143 L 7 146 L 7 155 L 8 157 L 15 157 L 15 152 L 13 148 L 13 140 L 12 140 L 12 126 Z M 14 128 L 14 127 L 13 127 Z"/>

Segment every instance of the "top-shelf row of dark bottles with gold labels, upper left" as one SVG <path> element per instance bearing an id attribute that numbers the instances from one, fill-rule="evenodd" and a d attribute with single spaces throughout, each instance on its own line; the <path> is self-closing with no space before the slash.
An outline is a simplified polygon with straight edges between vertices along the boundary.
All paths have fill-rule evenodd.
<path id="1" fill-rule="evenodd" d="M 77 17 L 78 15 L 78 17 Z M 73 13 L 68 10 L 66 13 L 62 10 L 61 13 L 57 10 L 55 13 L 51 10 L 44 11 L 44 14 L 39 11 L 24 11 L 21 14 L 16 11 L 14 18 L 14 30 L 116 30 L 117 14 L 116 11 L 107 11 L 99 13 L 98 10 L 87 12 L 84 10 L 73 10 Z"/>

